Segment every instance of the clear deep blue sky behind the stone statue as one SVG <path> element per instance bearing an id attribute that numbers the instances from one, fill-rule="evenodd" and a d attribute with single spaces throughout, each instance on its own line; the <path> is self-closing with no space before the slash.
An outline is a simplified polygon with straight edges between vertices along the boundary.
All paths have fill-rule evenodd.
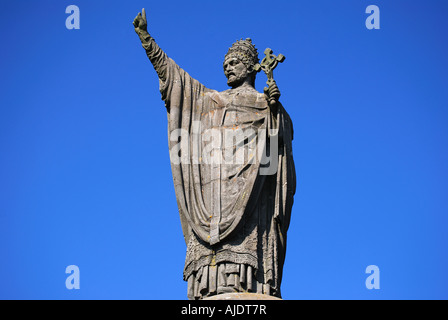
<path id="1" fill-rule="evenodd" d="M 79 30 L 65 27 L 71 4 Z M 380 30 L 365 26 L 371 4 Z M 298 188 L 285 299 L 448 299 L 442 0 L 2 1 L 0 298 L 186 299 L 166 111 L 131 24 L 142 7 L 209 88 L 227 89 L 237 39 L 286 56 L 275 78 Z"/>

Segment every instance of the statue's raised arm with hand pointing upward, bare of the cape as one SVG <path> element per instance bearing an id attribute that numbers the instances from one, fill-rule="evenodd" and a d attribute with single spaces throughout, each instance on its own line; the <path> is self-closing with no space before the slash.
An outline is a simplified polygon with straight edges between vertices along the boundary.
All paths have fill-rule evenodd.
<path id="1" fill-rule="evenodd" d="M 163 82 L 166 81 L 168 57 L 154 41 L 154 38 L 148 33 L 148 23 L 146 21 L 146 11 L 144 8 L 142 9 L 142 12 L 135 17 L 133 24 L 135 32 L 139 36 L 142 46 L 146 50 L 146 54 L 154 66 L 159 79 Z"/>

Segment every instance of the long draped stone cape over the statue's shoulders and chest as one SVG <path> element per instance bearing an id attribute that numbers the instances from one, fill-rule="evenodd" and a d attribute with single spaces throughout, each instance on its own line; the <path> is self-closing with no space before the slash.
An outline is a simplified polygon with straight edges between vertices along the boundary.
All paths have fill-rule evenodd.
<path id="1" fill-rule="evenodd" d="M 253 210 L 267 175 L 275 175 L 272 215 L 281 235 L 286 236 L 296 177 L 292 122 L 283 106 L 279 104 L 273 114 L 264 95 L 255 90 L 208 89 L 170 58 L 166 59 L 163 78 L 160 91 L 167 109 L 173 181 L 186 243 L 192 233 L 212 245 L 225 241 L 243 215 Z M 244 140 L 224 145 L 223 137 L 232 129 L 243 132 Z M 209 141 L 210 134 L 221 141 Z M 277 159 L 262 163 L 257 155 L 260 151 L 269 154 L 275 138 Z M 238 151 L 247 153 L 254 145 L 257 154 L 245 154 L 241 161 Z M 204 164 L 208 151 L 233 159 L 213 163 L 210 156 Z M 271 167 L 270 172 L 260 174 L 266 167 Z"/>

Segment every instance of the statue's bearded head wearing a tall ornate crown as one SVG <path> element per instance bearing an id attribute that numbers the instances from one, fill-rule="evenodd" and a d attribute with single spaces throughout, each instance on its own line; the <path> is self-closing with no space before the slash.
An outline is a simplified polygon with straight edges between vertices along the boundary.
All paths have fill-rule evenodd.
<path id="1" fill-rule="evenodd" d="M 235 42 L 224 58 L 224 74 L 227 84 L 236 88 L 244 82 L 255 85 L 255 66 L 259 63 L 258 51 L 252 44 L 252 40 L 239 40 Z"/>

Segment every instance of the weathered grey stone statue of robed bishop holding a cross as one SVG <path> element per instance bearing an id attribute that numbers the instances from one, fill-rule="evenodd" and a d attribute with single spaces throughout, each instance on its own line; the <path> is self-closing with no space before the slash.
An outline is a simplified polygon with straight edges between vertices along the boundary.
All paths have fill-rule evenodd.
<path id="1" fill-rule="evenodd" d="M 292 122 L 272 77 L 284 58 L 267 49 L 260 64 L 252 41 L 237 41 L 223 65 L 230 89 L 217 92 L 160 49 L 147 32 L 144 9 L 133 24 L 167 110 L 188 298 L 231 292 L 281 297 L 296 187 Z M 254 88 L 260 69 L 269 79 L 264 93 Z"/>

